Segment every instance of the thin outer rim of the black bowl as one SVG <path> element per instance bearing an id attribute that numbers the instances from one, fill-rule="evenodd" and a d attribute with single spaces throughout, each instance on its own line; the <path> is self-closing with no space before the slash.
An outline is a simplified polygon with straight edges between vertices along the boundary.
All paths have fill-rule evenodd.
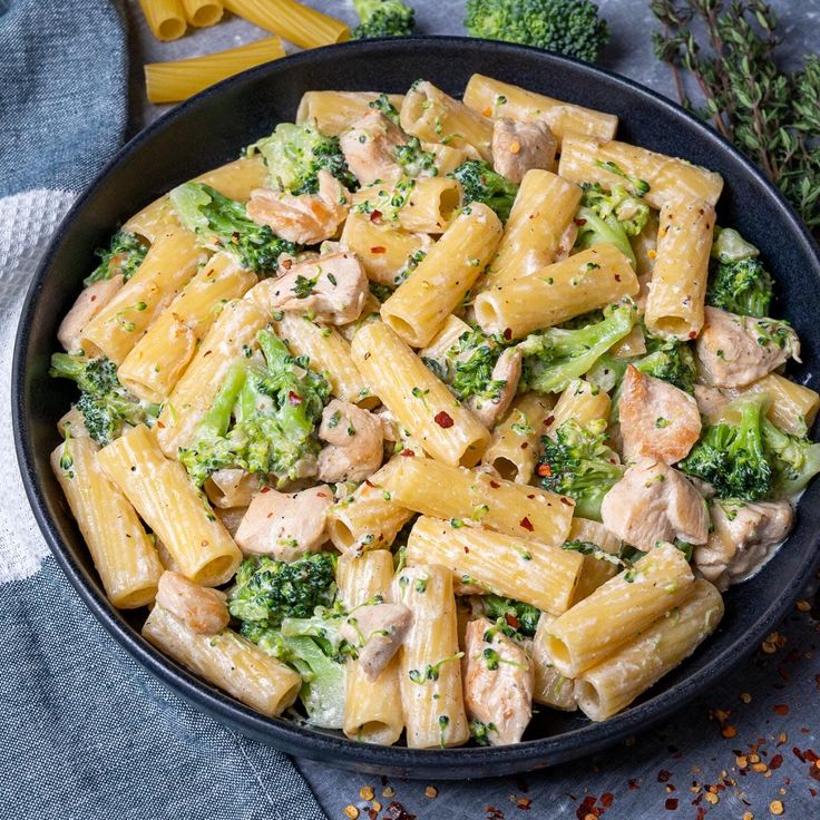
<path id="1" fill-rule="evenodd" d="M 146 143 L 149 143 L 154 138 L 154 135 L 162 133 L 179 119 L 185 118 L 191 109 L 222 94 L 227 88 L 261 79 L 270 71 L 280 72 L 283 69 L 299 68 L 303 64 L 310 65 L 316 61 L 321 62 L 328 59 L 342 58 L 349 51 L 364 53 L 390 51 L 398 45 L 393 38 L 351 41 L 301 51 L 243 71 L 211 86 L 163 114 L 136 134 L 106 163 L 102 169 L 95 176 L 94 180 L 77 197 L 55 232 L 31 280 L 23 302 L 12 359 L 11 411 L 14 449 L 26 495 L 38 527 L 57 564 L 66 574 L 79 597 L 88 606 L 97 621 L 134 660 L 163 681 L 164 684 L 169 685 L 176 694 L 180 695 L 188 703 L 208 712 L 223 722 L 227 722 L 233 728 L 255 740 L 277 746 L 290 753 L 321 759 L 332 765 L 352 767 L 373 772 L 400 771 L 408 772 L 413 777 L 435 775 L 439 779 L 462 778 L 463 772 L 470 767 L 477 767 L 485 771 L 497 769 L 499 773 L 525 771 L 527 769 L 549 765 L 553 759 L 556 762 L 563 762 L 589 754 L 623 740 L 671 715 L 673 712 L 677 712 L 710 685 L 716 683 L 721 676 L 738 665 L 740 661 L 751 654 L 760 644 L 763 637 L 791 607 L 808 579 L 812 577 L 813 570 L 820 566 L 820 535 L 812 539 L 811 548 L 806 550 L 799 569 L 785 588 L 784 594 L 774 601 L 769 601 L 768 606 L 758 614 L 753 623 L 746 624 L 744 634 L 735 640 L 731 646 L 726 647 L 722 653 L 710 657 L 702 668 L 695 671 L 683 681 L 673 684 L 653 695 L 647 701 L 632 706 L 607 721 L 601 723 L 587 722 L 577 729 L 572 729 L 562 734 L 527 740 L 507 746 L 468 746 L 436 750 L 379 746 L 360 743 L 341 735 L 328 734 L 310 726 L 299 725 L 286 719 L 266 718 L 206 683 L 148 644 L 125 621 L 123 615 L 107 598 L 94 588 L 85 577 L 85 570 L 71 558 L 68 546 L 58 535 L 55 521 L 47 511 L 47 494 L 38 480 L 35 465 L 35 448 L 31 440 L 29 419 L 26 413 L 27 407 L 25 404 L 25 381 L 27 373 L 25 351 L 30 336 L 31 318 L 37 306 L 42 282 L 51 269 L 59 245 L 66 234 L 70 232 L 77 213 L 85 207 L 86 202 L 97 188 L 105 184 L 108 175 L 125 159 L 138 153 Z M 422 49 L 428 47 L 449 47 L 452 49 L 468 47 L 479 51 L 491 51 L 495 55 L 499 52 L 510 53 L 511 56 L 525 53 L 529 57 L 536 56 L 537 59 L 544 60 L 545 66 L 549 66 L 553 69 L 559 69 L 562 66 L 570 66 L 574 70 L 580 70 L 587 77 L 606 78 L 608 82 L 621 86 L 622 89 L 629 92 L 633 97 L 640 98 L 641 102 L 650 106 L 660 106 L 677 119 L 687 121 L 700 131 L 706 147 L 711 144 L 718 146 L 723 152 L 729 152 L 735 160 L 741 163 L 748 175 L 751 175 L 758 183 L 763 184 L 768 188 L 769 193 L 774 197 L 775 203 L 780 206 L 780 212 L 784 223 L 787 223 L 787 227 L 802 243 L 804 251 L 813 255 L 816 260 L 820 257 L 820 248 L 818 248 L 804 224 L 781 192 L 765 178 L 762 170 L 715 130 L 686 111 L 677 102 L 664 97 L 657 91 L 612 70 L 554 52 L 515 43 L 480 40 L 470 37 L 419 36 L 401 38 L 401 46 L 402 48 L 418 47 Z"/>

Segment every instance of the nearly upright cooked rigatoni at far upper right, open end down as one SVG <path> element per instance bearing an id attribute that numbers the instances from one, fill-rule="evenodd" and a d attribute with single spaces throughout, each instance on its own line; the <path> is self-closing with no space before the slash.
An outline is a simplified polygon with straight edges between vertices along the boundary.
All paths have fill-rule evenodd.
<path id="1" fill-rule="evenodd" d="M 714 221 L 714 208 L 703 199 L 666 203 L 661 208 L 644 316 L 651 333 L 684 341 L 701 332 Z"/>

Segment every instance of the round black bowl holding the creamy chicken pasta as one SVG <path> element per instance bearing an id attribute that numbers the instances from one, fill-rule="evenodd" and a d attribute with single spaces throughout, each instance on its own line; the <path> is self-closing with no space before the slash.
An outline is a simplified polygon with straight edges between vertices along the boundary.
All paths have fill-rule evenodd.
<path id="1" fill-rule="evenodd" d="M 70 391 L 47 371 L 60 316 L 94 264 L 94 248 L 173 185 L 234 158 L 277 123 L 292 120 L 304 91 L 404 91 L 423 76 L 460 95 L 475 71 L 616 114 L 621 139 L 720 172 L 726 183 L 720 219 L 760 246 L 778 281 L 775 315 L 788 318 L 803 340 L 803 364 L 792 375 L 820 387 L 817 248 L 755 167 L 680 107 L 634 82 L 543 51 L 465 38 L 381 40 L 300 53 L 226 80 L 163 117 L 117 155 L 66 217 L 31 285 L 14 351 L 12 411 L 31 506 L 59 565 L 119 644 L 192 704 L 263 743 L 334 765 L 404 777 L 476 778 L 545 767 L 599 750 L 680 709 L 748 655 L 811 577 L 819 557 L 820 482 L 804 495 L 793 534 L 765 569 L 729 592 L 718 633 L 637 705 L 599 724 L 543 710 L 528 740 L 515 746 L 370 746 L 246 709 L 148 645 L 139 635 L 138 615 L 111 607 L 49 468 L 49 452 L 58 443 L 55 422 Z"/>

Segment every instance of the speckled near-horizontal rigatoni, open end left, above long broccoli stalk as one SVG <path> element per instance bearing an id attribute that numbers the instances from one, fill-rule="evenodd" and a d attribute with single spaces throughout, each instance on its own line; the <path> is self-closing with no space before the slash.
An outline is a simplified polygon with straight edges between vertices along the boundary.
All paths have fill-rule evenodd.
<path id="1" fill-rule="evenodd" d="M 602 244 L 495 285 L 476 296 L 476 321 L 512 339 L 634 296 L 637 276 L 615 245 Z"/>

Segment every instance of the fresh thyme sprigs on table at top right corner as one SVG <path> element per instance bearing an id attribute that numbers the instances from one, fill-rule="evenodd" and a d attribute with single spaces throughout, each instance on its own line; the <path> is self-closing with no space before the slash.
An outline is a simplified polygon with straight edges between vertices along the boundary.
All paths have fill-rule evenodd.
<path id="1" fill-rule="evenodd" d="M 762 0 L 652 0 L 655 53 L 677 95 L 763 168 L 820 233 L 820 57 L 778 64 L 778 21 Z M 690 97 L 693 81 L 699 101 Z"/>

